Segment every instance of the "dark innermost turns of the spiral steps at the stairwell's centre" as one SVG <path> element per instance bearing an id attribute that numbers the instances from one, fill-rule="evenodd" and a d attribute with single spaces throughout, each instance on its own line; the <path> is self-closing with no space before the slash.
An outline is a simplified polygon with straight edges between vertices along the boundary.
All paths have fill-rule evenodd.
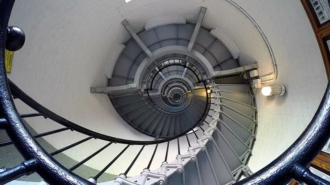
<path id="1" fill-rule="evenodd" d="M 185 134 L 203 123 L 210 108 L 206 86 L 210 81 L 200 72 L 205 70 L 177 54 L 167 57 L 148 66 L 142 81 L 146 88 L 109 93 L 113 106 L 129 125 L 155 138 Z"/>

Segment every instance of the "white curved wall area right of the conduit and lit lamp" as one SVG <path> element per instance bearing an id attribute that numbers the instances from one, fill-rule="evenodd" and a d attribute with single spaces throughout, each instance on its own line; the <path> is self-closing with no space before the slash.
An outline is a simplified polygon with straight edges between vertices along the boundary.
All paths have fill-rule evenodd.
<path id="1" fill-rule="evenodd" d="M 256 93 L 258 130 L 249 166 L 258 171 L 278 157 L 305 130 L 327 86 L 313 29 L 300 1 L 236 1 L 265 32 L 278 64 L 283 97 Z M 272 85 L 270 84 L 270 85 Z"/>

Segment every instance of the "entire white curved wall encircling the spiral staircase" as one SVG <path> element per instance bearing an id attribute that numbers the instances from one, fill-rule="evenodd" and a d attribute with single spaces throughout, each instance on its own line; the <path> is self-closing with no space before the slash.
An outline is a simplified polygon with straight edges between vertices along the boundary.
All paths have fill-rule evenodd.
<path id="1" fill-rule="evenodd" d="M 256 92 L 259 128 L 250 162 L 256 171 L 282 153 L 303 131 L 320 102 L 327 78 L 314 33 L 299 1 L 234 2 L 254 18 L 267 36 L 278 64 L 276 83 L 285 84 L 288 89 L 283 98 L 264 98 Z M 121 138 L 152 139 L 127 125 L 109 106 L 107 96 L 91 94 L 89 88 L 107 83 L 104 68 L 111 52 L 130 37 L 120 23 L 124 18 L 139 32 L 146 21 L 162 16 L 184 16 L 188 22 L 195 23 L 201 6 L 208 8 L 203 27 L 217 27 L 232 39 L 239 49 L 241 65 L 255 61 L 259 62 L 261 74 L 272 72 L 272 60 L 263 38 L 254 25 L 225 0 L 133 0 L 129 3 L 124 0 L 17 0 L 10 25 L 25 31 L 26 42 L 23 49 L 15 53 L 9 77 L 36 101 L 84 127 Z M 19 108 L 31 112 L 21 104 Z M 43 119 L 30 119 L 30 123 L 37 132 L 52 127 L 50 121 Z M 58 148 L 69 144 L 69 140 L 62 138 L 46 140 Z M 91 143 L 84 144 L 86 153 L 104 145 Z M 77 160 L 84 158 L 74 151 L 65 153 Z M 102 156 L 103 160 L 87 164 L 98 169 L 111 157 L 113 154 L 107 153 Z M 161 162 L 159 159 L 154 164 Z M 142 165 L 137 169 L 143 168 Z M 120 167 L 117 170 L 109 172 L 123 171 Z"/>

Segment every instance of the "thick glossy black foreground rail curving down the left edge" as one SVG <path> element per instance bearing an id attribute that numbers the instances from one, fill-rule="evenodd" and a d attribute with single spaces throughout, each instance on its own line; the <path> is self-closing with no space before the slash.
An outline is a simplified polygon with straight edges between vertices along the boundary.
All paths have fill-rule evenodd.
<path id="1" fill-rule="evenodd" d="M 92 184 L 74 175 L 55 160 L 36 142 L 23 125 L 21 117 L 10 95 L 7 74 L 5 73 L 5 34 L 14 0 L 0 1 L 0 128 L 5 129 L 23 158 L 23 167 L 29 173 L 36 171 L 52 184 Z"/>

